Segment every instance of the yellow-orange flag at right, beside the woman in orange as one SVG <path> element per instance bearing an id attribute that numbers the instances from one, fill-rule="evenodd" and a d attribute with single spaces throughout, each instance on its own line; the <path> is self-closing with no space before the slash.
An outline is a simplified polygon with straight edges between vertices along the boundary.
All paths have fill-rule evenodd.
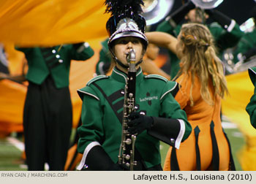
<path id="1" fill-rule="evenodd" d="M 252 127 L 245 107 L 252 97 L 254 86 L 247 71 L 226 77 L 230 96 L 222 101 L 222 112 L 244 134 L 246 144 L 238 153 L 238 160 L 244 171 L 256 170 L 256 130 Z"/>

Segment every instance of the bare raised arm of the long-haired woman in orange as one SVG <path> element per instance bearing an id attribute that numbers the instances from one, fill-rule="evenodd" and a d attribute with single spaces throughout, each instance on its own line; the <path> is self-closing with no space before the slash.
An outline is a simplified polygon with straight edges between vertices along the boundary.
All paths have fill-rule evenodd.
<path id="1" fill-rule="evenodd" d="M 147 32 L 145 35 L 148 38 L 149 43 L 159 47 L 166 47 L 171 52 L 176 54 L 176 45 L 178 43 L 176 37 L 159 31 Z"/>

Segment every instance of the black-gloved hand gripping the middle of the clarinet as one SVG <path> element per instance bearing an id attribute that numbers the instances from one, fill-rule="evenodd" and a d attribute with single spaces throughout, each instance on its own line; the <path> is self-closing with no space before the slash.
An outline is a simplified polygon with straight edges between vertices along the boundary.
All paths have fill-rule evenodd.
<path id="1" fill-rule="evenodd" d="M 151 129 L 154 123 L 151 116 L 140 114 L 140 112 L 132 112 L 128 118 L 128 131 L 131 134 L 140 134 L 144 130 Z"/>

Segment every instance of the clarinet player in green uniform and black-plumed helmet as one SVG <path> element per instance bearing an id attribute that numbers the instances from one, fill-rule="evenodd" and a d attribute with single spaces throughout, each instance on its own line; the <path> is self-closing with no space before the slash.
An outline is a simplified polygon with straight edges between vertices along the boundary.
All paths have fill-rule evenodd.
<path id="1" fill-rule="evenodd" d="M 105 1 L 105 4 L 107 12 L 112 12 L 107 22 L 108 46 L 116 66 L 110 76 L 94 77 L 78 90 L 83 100 L 78 152 L 83 153 L 83 158 L 77 169 L 129 170 L 118 156 L 122 124 L 124 127 L 127 119 L 122 112 L 124 103 L 127 105 L 124 87 L 128 86 L 129 91 L 129 82 L 133 81 L 129 77 L 131 65 L 127 56 L 135 50 L 135 111 L 128 114 L 126 131 L 137 136 L 132 149 L 137 162 L 134 170 L 162 170 L 159 140 L 178 148 L 191 133 L 186 113 L 173 99 L 178 84 L 159 75 L 142 73 L 140 63 L 148 45 L 144 35 L 146 21 L 139 15 L 143 1 Z"/>

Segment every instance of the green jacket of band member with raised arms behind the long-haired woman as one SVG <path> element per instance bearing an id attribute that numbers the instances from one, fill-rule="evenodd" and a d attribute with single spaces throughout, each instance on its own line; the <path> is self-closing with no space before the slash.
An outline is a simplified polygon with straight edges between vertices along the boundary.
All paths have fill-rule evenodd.
<path id="1" fill-rule="evenodd" d="M 178 24 L 175 28 L 170 25 L 169 20 L 165 20 L 157 26 L 157 31 L 162 31 L 168 34 L 178 37 L 179 32 L 181 31 L 181 24 Z M 228 47 L 235 46 L 239 39 L 243 36 L 243 32 L 240 30 L 238 24 L 233 20 L 230 23 L 230 26 L 226 29 L 222 28 L 219 23 L 211 23 L 207 25 L 211 34 L 214 37 L 216 46 L 218 48 L 219 55 L 221 56 L 223 51 Z M 178 70 L 180 69 L 179 60 L 175 54 L 169 51 L 170 56 L 170 77 L 176 76 Z M 221 58 L 221 57 L 220 57 Z"/>

